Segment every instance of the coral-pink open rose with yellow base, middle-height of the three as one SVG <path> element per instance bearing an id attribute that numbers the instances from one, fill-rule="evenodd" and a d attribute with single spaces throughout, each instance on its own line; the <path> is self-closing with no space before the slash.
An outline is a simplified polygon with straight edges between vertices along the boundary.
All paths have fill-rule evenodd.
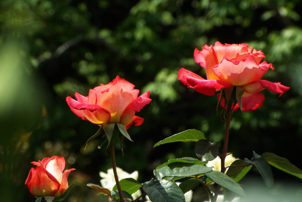
<path id="1" fill-rule="evenodd" d="M 151 102 L 150 91 L 137 97 L 140 91 L 133 88 L 133 84 L 117 76 L 109 84 L 90 89 L 87 97 L 76 93 L 77 101 L 68 96 L 66 102 L 82 120 L 100 126 L 121 123 L 128 129 L 133 122 L 136 126 L 143 123 L 144 119 L 134 116 L 135 112 Z"/>

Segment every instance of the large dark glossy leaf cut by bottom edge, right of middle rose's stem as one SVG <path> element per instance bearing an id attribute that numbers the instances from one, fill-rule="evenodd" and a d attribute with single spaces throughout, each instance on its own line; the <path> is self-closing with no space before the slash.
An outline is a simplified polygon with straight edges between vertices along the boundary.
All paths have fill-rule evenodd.
<path id="1" fill-rule="evenodd" d="M 182 190 L 170 180 L 156 180 L 151 186 L 144 183 L 143 190 L 152 202 L 185 202 Z"/>

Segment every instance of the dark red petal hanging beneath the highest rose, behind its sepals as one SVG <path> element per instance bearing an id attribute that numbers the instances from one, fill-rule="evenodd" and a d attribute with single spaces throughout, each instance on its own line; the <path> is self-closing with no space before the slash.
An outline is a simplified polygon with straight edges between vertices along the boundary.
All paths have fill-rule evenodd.
<path id="1" fill-rule="evenodd" d="M 220 99 L 220 94 L 218 94 L 217 99 Z M 262 93 L 248 93 L 248 92 L 243 92 L 242 95 L 242 110 L 243 111 L 253 111 L 257 109 L 258 107 L 262 107 L 262 104 L 265 100 L 265 97 Z M 224 107 L 224 99 L 220 102 L 220 106 Z M 234 103 L 233 103 L 234 104 Z M 232 107 L 234 106 L 232 104 Z M 234 107 L 234 111 L 237 111 L 239 108 L 238 103 Z"/>

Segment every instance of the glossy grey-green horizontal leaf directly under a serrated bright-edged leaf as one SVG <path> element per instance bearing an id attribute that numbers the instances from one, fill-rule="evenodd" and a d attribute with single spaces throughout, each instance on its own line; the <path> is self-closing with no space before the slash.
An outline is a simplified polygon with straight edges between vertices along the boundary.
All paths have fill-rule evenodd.
<path id="1" fill-rule="evenodd" d="M 189 177 L 193 175 L 204 174 L 212 171 L 211 167 L 204 165 L 190 164 L 183 162 L 171 163 L 165 167 L 154 170 L 154 175 L 157 180 L 163 177 Z"/>

